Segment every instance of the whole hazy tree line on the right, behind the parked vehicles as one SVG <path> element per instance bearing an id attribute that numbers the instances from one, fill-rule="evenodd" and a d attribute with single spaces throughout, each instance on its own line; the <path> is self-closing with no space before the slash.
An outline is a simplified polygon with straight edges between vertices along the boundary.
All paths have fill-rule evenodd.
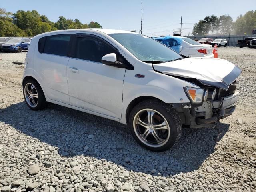
<path id="1" fill-rule="evenodd" d="M 204 34 L 251 34 L 256 29 L 256 10 L 248 11 L 244 15 L 238 16 L 236 21 L 229 15 L 217 17 L 215 15 L 206 16 L 199 20 L 192 30 L 192 35 Z"/>

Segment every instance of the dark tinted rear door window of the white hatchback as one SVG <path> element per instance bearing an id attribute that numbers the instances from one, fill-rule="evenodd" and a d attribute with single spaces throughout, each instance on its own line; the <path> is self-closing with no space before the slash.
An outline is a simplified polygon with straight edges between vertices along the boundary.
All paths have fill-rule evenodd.
<path id="1" fill-rule="evenodd" d="M 67 56 L 71 34 L 47 36 L 44 53 Z M 38 44 L 39 48 L 39 44 Z"/>

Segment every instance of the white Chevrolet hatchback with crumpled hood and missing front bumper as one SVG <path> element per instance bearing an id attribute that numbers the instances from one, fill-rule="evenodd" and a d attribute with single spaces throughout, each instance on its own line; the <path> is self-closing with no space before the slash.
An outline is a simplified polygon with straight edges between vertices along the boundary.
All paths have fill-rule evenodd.
<path id="1" fill-rule="evenodd" d="M 60 30 L 35 36 L 22 80 L 29 108 L 52 102 L 123 124 L 149 150 L 164 151 L 182 127 L 212 127 L 235 109 L 240 69 L 188 58 L 133 32 Z"/>

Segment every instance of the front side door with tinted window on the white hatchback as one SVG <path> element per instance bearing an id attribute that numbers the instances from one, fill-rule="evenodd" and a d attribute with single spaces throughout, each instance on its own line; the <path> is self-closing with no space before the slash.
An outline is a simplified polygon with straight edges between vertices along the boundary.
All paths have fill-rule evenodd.
<path id="1" fill-rule="evenodd" d="M 101 63 L 118 51 L 93 35 L 77 35 L 67 66 L 70 105 L 121 118 L 124 68 Z"/>

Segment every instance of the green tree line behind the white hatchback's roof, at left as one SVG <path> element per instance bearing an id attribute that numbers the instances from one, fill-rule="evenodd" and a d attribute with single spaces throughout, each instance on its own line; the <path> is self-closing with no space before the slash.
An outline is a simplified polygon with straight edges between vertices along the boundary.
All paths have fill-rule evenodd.
<path id="1" fill-rule="evenodd" d="M 11 13 L 0 8 L 0 36 L 32 37 L 49 31 L 85 28 L 102 28 L 102 26 L 98 22 L 83 24 L 78 19 L 66 19 L 63 16 L 59 16 L 59 20 L 54 23 L 36 10 L 18 10 L 16 13 Z"/>

